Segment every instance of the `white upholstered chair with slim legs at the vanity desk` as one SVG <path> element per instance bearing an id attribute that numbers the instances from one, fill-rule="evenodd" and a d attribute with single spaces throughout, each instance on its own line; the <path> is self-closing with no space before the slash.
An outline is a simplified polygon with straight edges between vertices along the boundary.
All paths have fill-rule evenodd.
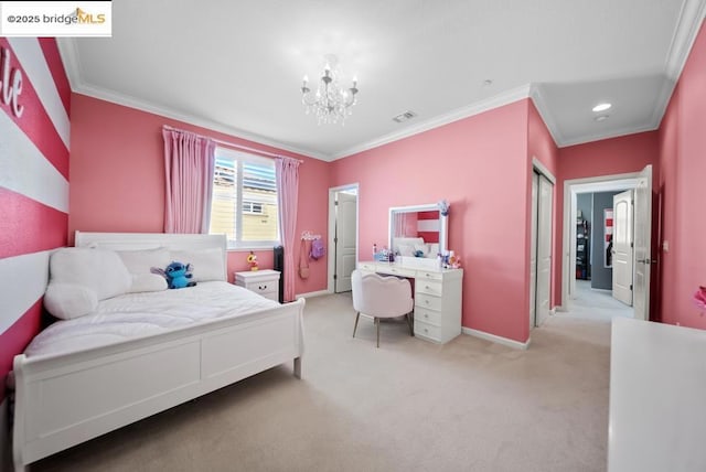
<path id="1" fill-rule="evenodd" d="M 411 311 L 415 303 L 411 298 L 409 280 L 353 270 L 351 282 L 353 308 L 356 311 L 353 337 L 355 337 L 361 314 L 372 317 L 377 325 L 377 347 L 379 347 L 381 318 L 405 317 L 405 321 L 409 325 L 409 334 L 414 335 Z"/>

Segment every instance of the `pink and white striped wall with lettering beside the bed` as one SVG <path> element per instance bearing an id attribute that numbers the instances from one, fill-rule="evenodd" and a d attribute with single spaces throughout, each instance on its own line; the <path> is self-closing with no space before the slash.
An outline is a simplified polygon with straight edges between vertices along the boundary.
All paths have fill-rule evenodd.
<path id="1" fill-rule="evenodd" d="M 9 41 L 0 37 L 2 50 L 0 55 L 3 60 L 9 58 L 10 67 L 8 71 L 10 76 L 0 77 L 0 82 L 13 81 L 14 74 L 21 74 L 22 88 L 18 95 L 18 105 L 23 107 L 22 115 L 18 117 L 13 111 L 12 100 L 10 104 L 0 100 L 0 115 L 2 115 L 0 161 L 3 163 L 2 172 L 4 173 L 0 179 L 0 259 L 49 251 L 66 245 L 67 190 L 62 185 L 50 186 L 50 190 L 40 195 L 35 183 L 28 181 L 24 175 L 26 167 L 33 165 L 32 155 L 39 154 L 36 163 L 49 165 L 33 165 L 32 175 L 38 175 L 38 179 L 42 180 L 51 174 L 49 179 L 52 183 L 68 183 L 68 148 L 62 140 L 62 131 L 58 129 L 63 129 L 64 124 L 68 125 L 71 94 L 68 79 L 62 65 L 56 40 L 28 37 L 23 41 L 39 43 L 40 56 L 30 57 L 39 63 L 21 63 Z M 40 76 L 29 75 L 28 71 Z M 7 82 L 6 85 L 8 84 L 11 82 Z M 60 109 L 55 115 L 60 124 L 58 128 L 46 111 L 49 104 L 43 101 L 53 97 L 57 98 L 54 105 L 58 105 Z M 63 109 L 61 109 L 62 106 Z M 56 110 L 56 108 L 53 109 Z M 19 161 L 18 157 L 23 161 Z M 24 160 L 29 162 L 25 163 Z M 4 184 L 8 182 L 10 185 L 6 187 Z M 23 261 L 21 265 L 26 269 L 30 262 Z M 3 267 L 11 266 L 3 265 Z M 32 266 L 31 270 L 36 270 L 36 276 L 41 277 L 45 275 L 47 268 L 40 264 L 36 267 Z M 0 275 L 4 277 L 3 280 L 17 277 L 17 273 Z M 32 285 L 28 283 L 28 286 Z M 28 296 L 28 293 L 23 294 Z M 4 399 L 4 378 L 12 367 L 12 360 L 24 351 L 40 331 L 43 298 L 41 293 L 36 293 L 36 298 L 29 307 L 17 307 L 15 303 L 7 303 L 7 300 L 2 300 L 0 401 Z"/>

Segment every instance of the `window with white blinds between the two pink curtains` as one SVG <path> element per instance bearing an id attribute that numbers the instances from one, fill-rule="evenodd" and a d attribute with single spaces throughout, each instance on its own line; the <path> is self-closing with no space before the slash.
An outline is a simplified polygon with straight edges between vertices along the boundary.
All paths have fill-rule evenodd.
<path id="1" fill-rule="evenodd" d="M 231 249 L 279 244 L 274 160 L 216 148 L 208 233 L 225 233 Z"/>

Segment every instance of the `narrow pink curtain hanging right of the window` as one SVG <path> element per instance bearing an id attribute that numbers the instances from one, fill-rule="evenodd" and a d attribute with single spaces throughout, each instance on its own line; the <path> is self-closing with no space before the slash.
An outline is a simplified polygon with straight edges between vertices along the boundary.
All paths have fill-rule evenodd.
<path id="1" fill-rule="evenodd" d="M 297 203 L 299 200 L 299 160 L 277 158 L 277 199 L 279 203 L 279 224 L 282 246 L 285 247 L 285 301 L 295 299 L 295 247 L 297 244 Z"/>

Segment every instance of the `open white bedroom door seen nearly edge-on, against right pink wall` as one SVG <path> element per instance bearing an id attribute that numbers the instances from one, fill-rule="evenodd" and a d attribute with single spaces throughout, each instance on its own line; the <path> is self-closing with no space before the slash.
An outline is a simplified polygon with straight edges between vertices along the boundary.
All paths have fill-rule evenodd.
<path id="1" fill-rule="evenodd" d="M 652 165 L 640 172 L 634 207 L 635 267 L 633 280 L 634 317 L 650 320 L 650 266 L 652 260 Z"/>

